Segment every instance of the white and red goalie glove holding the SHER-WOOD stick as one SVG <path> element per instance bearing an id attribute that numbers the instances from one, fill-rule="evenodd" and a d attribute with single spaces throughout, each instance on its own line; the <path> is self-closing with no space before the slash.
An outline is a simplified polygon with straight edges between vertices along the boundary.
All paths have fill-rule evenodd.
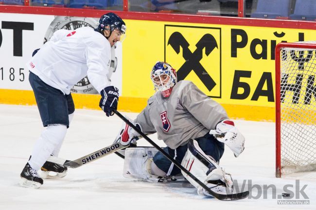
<path id="1" fill-rule="evenodd" d="M 142 131 L 139 123 L 134 123 L 132 120 L 128 119 L 136 128 L 138 128 L 140 131 Z M 121 145 L 129 145 L 129 144 L 135 144 L 136 141 L 140 139 L 140 134 L 131 128 L 126 123 L 123 123 L 122 129 L 119 133 L 119 135 L 116 137 L 116 142 L 120 141 Z"/>

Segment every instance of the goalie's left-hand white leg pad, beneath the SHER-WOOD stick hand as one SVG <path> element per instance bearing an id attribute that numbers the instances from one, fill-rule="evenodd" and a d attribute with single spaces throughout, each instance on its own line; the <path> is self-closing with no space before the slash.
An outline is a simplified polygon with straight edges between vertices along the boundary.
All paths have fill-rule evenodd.
<path id="1" fill-rule="evenodd" d="M 130 147 L 125 149 L 123 177 L 140 178 L 148 182 L 166 182 L 165 177 L 151 174 L 155 147 Z"/>

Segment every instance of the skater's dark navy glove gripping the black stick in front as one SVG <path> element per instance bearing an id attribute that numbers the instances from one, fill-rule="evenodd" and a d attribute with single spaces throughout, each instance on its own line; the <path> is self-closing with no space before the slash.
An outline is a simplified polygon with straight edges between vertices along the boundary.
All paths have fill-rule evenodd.
<path id="1" fill-rule="evenodd" d="M 113 110 L 117 109 L 117 104 L 119 101 L 119 89 L 114 86 L 105 87 L 101 91 L 101 100 L 99 107 L 105 112 L 106 116 L 112 116 Z"/>

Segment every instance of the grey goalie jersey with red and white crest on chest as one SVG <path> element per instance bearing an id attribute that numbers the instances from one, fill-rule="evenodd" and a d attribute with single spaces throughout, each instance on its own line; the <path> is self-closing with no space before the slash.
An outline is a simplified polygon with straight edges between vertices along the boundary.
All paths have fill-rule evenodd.
<path id="1" fill-rule="evenodd" d="M 204 136 L 218 122 L 228 119 L 224 108 L 207 97 L 191 81 L 179 81 L 169 97 L 160 92 L 150 97 L 134 122 L 144 133 L 157 132 L 158 139 L 172 149 Z"/>

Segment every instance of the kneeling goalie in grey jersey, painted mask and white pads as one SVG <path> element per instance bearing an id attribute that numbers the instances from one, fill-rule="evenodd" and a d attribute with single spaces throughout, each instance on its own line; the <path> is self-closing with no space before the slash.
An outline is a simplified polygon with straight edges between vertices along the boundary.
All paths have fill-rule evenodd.
<path id="1" fill-rule="evenodd" d="M 228 119 L 224 108 L 207 97 L 191 81 L 178 81 L 171 65 L 158 62 L 151 71 L 156 94 L 133 124 L 143 133 L 157 132 L 167 147 L 164 151 L 217 193 L 231 190 L 232 179 L 218 165 L 224 144 L 238 157 L 244 150 L 244 136 Z M 124 123 L 116 141 L 123 145 L 140 136 Z M 208 194 L 183 173 L 198 194 Z M 180 169 L 153 147 L 134 147 L 125 151 L 123 176 L 163 182 L 181 175 Z"/>

